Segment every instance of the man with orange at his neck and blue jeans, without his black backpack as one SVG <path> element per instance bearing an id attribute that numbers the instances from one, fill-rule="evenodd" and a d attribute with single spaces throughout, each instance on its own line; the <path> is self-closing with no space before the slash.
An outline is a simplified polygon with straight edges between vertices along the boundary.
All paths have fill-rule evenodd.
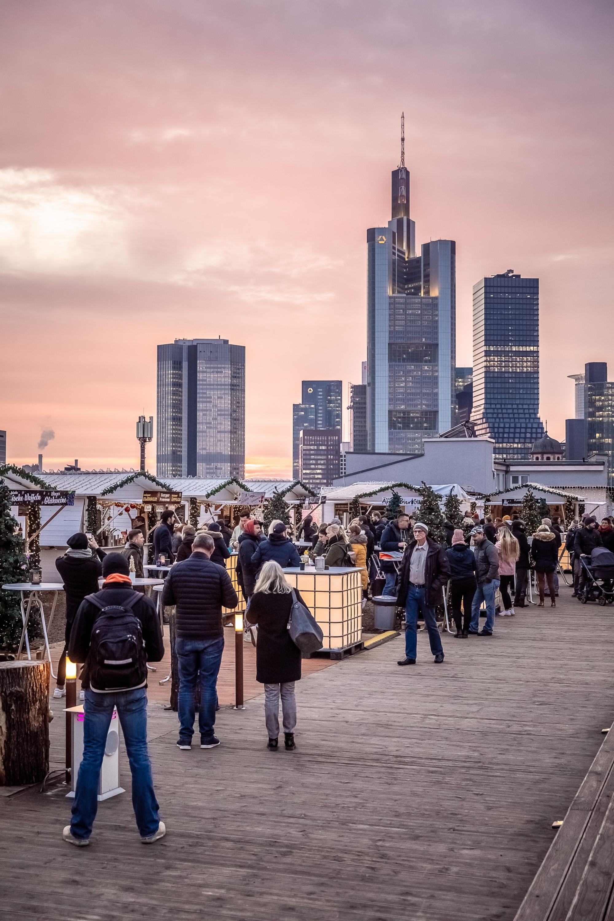
<path id="1" fill-rule="evenodd" d="M 164 657 L 164 643 L 154 602 L 145 595 L 134 599 L 128 561 L 122 554 L 108 554 L 102 563 L 105 577 L 96 598 L 105 607 L 117 608 L 132 602 L 132 613 L 141 625 L 141 635 L 147 659 L 159 662 Z M 125 611 L 130 609 L 126 608 Z M 88 845 L 98 809 L 98 779 L 104 758 L 107 734 L 117 708 L 122 724 L 123 739 L 133 775 L 133 808 L 136 824 L 144 844 L 153 844 L 166 834 L 160 822 L 158 805 L 147 752 L 147 695 L 145 682 L 123 690 L 100 690 L 89 680 L 90 641 L 92 631 L 101 615 L 98 605 L 86 598 L 76 612 L 70 634 L 68 656 L 73 662 L 85 662 L 81 680 L 86 688 L 83 724 L 83 760 L 76 779 L 75 801 L 70 825 L 64 828 L 64 841 L 71 845 Z M 106 663 L 105 663 L 106 664 Z M 116 663 L 112 663 L 116 664 Z M 123 660 L 122 660 L 123 664 Z"/>

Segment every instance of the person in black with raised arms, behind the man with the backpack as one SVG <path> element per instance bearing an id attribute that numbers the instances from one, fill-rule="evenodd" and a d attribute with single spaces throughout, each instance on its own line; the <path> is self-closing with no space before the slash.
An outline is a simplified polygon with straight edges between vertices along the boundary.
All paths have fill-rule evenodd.
<path id="1" fill-rule="evenodd" d="M 104 559 L 104 554 L 98 550 L 98 543 L 94 538 L 87 540 L 87 535 L 81 531 L 71 535 L 66 543 L 68 550 L 64 556 L 58 556 L 55 561 L 55 568 L 64 582 L 66 625 L 64 627 L 64 649 L 58 662 L 57 687 L 53 691 L 54 697 L 64 697 L 66 694 L 64 683 L 70 631 L 81 601 L 86 595 L 98 591 L 98 577 L 102 575 L 100 561 Z"/>

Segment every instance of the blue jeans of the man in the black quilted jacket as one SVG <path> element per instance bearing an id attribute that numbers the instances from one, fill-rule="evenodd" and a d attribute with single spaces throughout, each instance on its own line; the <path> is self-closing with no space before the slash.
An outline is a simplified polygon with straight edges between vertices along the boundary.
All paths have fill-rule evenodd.
<path id="1" fill-rule="evenodd" d="M 201 672 L 201 705 L 198 711 L 198 728 L 203 739 L 214 734 L 215 705 L 217 704 L 217 675 L 222 664 L 224 636 L 216 639 L 175 640 L 177 664 L 180 672 L 178 709 L 180 740 L 191 741 L 194 734 L 194 688 Z"/>

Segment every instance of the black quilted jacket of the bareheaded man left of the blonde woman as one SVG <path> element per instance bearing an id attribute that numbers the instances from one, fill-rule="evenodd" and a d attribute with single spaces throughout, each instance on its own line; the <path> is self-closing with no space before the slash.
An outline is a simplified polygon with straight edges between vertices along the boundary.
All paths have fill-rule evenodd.
<path id="1" fill-rule="evenodd" d="M 177 605 L 175 623 L 182 639 L 216 639 L 224 635 L 222 607 L 236 608 L 238 598 L 224 566 L 197 551 L 172 567 L 162 603 Z"/>

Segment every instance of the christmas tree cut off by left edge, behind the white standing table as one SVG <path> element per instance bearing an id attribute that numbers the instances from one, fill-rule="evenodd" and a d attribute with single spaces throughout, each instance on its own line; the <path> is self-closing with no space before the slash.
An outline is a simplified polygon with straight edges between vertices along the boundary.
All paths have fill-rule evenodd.
<path id="1" fill-rule="evenodd" d="M 0 480 L 0 585 L 23 582 L 24 542 L 17 535 L 17 521 L 11 515 L 8 487 Z M 21 634 L 17 591 L 0 589 L 0 648 L 16 647 Z"/>

